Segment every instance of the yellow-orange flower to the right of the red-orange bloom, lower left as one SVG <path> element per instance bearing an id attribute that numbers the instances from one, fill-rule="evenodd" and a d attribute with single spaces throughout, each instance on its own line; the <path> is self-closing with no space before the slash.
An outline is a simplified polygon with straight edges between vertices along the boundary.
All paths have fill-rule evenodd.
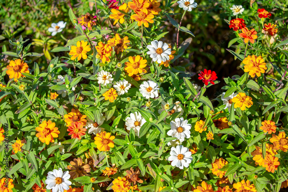
<path id="1" fill-rule="evenodd" d="M 96 137 L 94 137 L 94 143 L 95 145 L 97 145 L 97 149 L 99 151 L 109 151 L 110 147 L 114 147 L 114 139 L 115 136 L 111 136 L 110 133 L 106 133 L 106 131 L 103 131 L 96 134 Z"/>

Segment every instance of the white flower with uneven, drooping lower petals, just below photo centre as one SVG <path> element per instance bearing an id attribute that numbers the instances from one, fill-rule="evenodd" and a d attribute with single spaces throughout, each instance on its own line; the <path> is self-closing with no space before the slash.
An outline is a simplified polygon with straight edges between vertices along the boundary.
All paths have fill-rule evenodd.
<path id="1" fill-rule="evenodd" d="M 138 112 L 130 113 L 130 117 L 126 117 L 125 121 L 127 130 L 133 129 L 137 136 L 139 136 L 141 126 L 143 126 L 143 124 L 146 122 Z"/>

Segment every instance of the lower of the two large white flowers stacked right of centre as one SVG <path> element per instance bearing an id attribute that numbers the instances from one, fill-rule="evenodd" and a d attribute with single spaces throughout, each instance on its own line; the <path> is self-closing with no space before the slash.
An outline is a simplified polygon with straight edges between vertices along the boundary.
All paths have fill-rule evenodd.
<path id="1" fill-rule="evenodd" d="M 183 145 L 177 145 L 175 147 L 171 147 L 170 157 L 168 157 L 168 161 L 172 161 L 171 165 L 179 167 L 183 169 L 184 167 L 189 167 L 189 164 L 192 162 L 192 153 L 189 151 L 187 147 L 183 147 Z"/>

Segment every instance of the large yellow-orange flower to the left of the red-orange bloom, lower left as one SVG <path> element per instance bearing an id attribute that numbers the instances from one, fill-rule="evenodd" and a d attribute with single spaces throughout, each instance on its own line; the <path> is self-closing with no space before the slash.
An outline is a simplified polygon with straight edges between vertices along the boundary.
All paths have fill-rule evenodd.
<path id="1" fill-rule="evenodd" d="M 39 132 L 36 134 L 36 137 L 38 137 L 41 142 L 45 142 L 46 145 L 49 145 L 50 142 L 53 143 L 54 138 L 58 137 L 58 134 L 60 133 L 58 128 L 55 127 L 55 123 L 52 123 L 51 120 L 42 121 L 39 127 L 36 127 L 35 130 Z"/>

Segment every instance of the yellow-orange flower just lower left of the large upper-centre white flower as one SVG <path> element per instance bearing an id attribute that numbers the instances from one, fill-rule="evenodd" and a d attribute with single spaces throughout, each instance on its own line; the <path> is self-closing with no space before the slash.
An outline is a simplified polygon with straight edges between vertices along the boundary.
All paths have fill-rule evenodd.
<path id="1" fill-rule="evenodd" d="M 138 73 L 147 73 L 144 67 L 147 66 L 147 60 L 143 59 L 139 55 L 136 57 L 129 57 L 129 62 L 125 62 L 124 70 L 127 71 L 128 75 L 131 77 L 132 75 L 137 75 Z"/>

